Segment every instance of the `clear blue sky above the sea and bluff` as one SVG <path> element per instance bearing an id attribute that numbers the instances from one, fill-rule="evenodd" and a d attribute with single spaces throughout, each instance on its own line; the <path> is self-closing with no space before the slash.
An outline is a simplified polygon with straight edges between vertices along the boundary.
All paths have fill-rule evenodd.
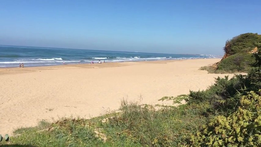
<path id="1" fill-rule="evenodd" d="M 246 32 L 261 0 L 0 0 L 2 45 L 222 55 Z"/>

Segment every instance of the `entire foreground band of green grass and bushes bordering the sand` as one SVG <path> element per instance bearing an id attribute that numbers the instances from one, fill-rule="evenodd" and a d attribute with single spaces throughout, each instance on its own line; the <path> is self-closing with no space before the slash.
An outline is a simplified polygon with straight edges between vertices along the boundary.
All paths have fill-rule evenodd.
<path id="1" fill-rule="evenodd" d="M 231 55 L 232 56 L 232 55 Z M 207 90 L 164 96 L 186 104 L 149 106 L 123 100 L 120 111 L 92 119 L 42 121 L 0 146 L 261 146 L 261 53 L 247 75 L 216 78 Z"/>

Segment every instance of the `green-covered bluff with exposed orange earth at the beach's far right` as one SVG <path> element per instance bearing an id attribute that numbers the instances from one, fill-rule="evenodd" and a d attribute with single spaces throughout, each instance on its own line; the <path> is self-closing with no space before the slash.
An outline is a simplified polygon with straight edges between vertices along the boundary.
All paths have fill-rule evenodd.
<path id="1" fill-rule="evenodd" d="M 245 33 L 226 41 L 223 48 L 225 55 L 222 60 L 212 66 L 201 67 L 209 73 L 236 73 L 247 72 L 256 66 L 255 56 L 261 47 L 261 35 Z M 260 52 L 260 51 L 259 51 Z"/>

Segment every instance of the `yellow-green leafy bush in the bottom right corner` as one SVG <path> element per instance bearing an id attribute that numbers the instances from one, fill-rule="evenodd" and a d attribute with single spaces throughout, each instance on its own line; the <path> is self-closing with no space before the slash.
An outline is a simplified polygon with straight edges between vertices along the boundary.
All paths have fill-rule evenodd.
<path id="1" fill-rule="evenodd" d="M 261 92 L 261 89 L 259 90 Z M 251 91 L 240 98 L 240 107 L 228 117 L 211 119 L 202 132 L 181 146 L 261 146 L 261 96 Z"/>

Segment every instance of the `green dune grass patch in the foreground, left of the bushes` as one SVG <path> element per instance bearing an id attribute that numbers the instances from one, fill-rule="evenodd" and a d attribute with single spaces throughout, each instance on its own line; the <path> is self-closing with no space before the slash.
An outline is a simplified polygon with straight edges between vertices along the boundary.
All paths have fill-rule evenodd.
<path id="1" fill-rule="evenodd" d="M 93 119 L 61 119 L 20 128 L 9 145 L 31 146 L 177 146 L 206 123 L 207 104 L 161 107 L 122 101 L 121 112 Z M 95 133 L 96 132 L 96 133 Z M 97 134 L 98 132 L 98 134 Z M 5 143 L 5 142 L 4 142 Z"/>

